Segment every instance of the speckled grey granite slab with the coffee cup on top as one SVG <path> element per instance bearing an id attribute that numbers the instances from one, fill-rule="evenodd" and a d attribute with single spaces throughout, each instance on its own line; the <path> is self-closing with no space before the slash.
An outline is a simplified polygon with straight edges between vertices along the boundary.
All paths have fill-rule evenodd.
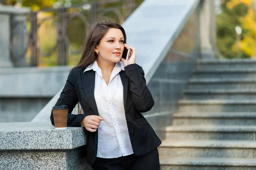
<path id="1" fill-rule="evenodd" d="M 74 149 L 86 145 L 83 127 L 55 130 L 49 122 L 0 123 L 0 150 Z"/>

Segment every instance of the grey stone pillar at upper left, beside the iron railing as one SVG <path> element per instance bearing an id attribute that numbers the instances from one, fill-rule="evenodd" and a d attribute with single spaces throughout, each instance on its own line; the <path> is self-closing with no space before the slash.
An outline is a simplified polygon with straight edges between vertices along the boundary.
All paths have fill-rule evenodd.
<path id="1" fill-rule="evenodd" d="M 0 68 L 28 66 L 27 14 L 30 8 L 0 6 Z"/>

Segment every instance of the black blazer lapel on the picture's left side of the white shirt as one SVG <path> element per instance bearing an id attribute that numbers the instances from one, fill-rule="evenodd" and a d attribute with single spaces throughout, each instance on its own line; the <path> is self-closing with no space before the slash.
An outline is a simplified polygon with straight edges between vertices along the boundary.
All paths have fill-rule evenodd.
<path id="1" fill-rule="evenodd" d="M 95 115 L 99 116 L 98 108 L 94 97 L 95 71 L 91 70 L 81 72 L 81 77 L 86 98 L 89 100 L 88 102 L 90 102 L 90 105 L 93 108 L 93 112 L 95 113 Z"/>

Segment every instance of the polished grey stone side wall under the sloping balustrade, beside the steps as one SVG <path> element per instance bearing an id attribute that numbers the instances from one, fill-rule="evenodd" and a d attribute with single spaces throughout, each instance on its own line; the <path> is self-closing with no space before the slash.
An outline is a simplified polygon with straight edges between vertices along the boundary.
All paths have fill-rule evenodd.
<path id="1" fill-rule="evenodd" d="M 177 102 L 183 97 L 183 89 L 201 56 L 199 8 L 186 21 L 148 83 L 155 105 L 145 117 L 161 139 L 165 138 L 165 127 L 172 125 L 172 114 L 178 110 Z"/>

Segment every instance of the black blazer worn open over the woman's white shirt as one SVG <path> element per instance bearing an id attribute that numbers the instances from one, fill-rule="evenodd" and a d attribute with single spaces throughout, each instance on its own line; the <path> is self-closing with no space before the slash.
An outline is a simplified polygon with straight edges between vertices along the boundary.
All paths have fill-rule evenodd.
<path id="1" fill-rule="evenodd" d="M 123 85 L 125 117 L 131 146 L 136 156 L 144 155 L 156 149 L 161 141 L 153 128 L 141 114 L 149 111 L 154 100 L 146 86 L 144 71 L 137 64 L 127 65 L 125 71 L 119 75 Z M 66 85 L 61 92 L 55 106 L 67 105 L 69 107 L 67 126 L 81 127 L 81 120 L 88 115 L 98 115 L 94 98 L 95 71 L 84 72 L 84 69 L 73 69 L 67 77 Z M 71 114 L 77 103 L 81 104 L 84 114 Z M 53 116 L 50 116 L 54 125 Z M 98 130 L 89 132 L 87 138 L 87 163 L 93 165 L 97 155 Z"/>

